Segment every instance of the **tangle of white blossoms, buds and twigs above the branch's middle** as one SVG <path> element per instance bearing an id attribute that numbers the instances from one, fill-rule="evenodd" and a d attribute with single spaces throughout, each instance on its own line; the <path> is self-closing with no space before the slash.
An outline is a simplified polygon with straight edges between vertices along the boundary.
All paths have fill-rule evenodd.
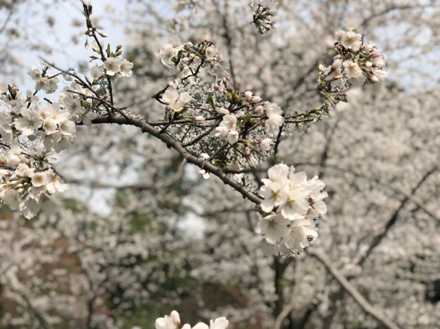
<path id="1" fill-rule="evenodd" d="M 156 95 L 166 105 L 163 125 L 169 134 L 221 167 L 253 167 L 268 156 L 283 124 L 283 112 L 277 104 L 231 86 L 211 42 L 166 45 L 158 57 L 172 77 Z M 206 66 L 213 82 L 200 77 Z M 219 139 L 226 144 L 219 144 Z"/>

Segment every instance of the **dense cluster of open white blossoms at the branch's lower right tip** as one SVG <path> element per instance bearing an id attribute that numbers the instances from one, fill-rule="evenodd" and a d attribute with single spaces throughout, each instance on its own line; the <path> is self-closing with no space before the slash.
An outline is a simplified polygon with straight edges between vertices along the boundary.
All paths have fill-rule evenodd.
<path id="1" fill-rule="evenodd" d="M 259 221 L 259 233 L 276 254 L 297 255 L 318 236 L 314 219 L 327 212 L 325 184 L 314 176 L 308 180 L 303 171 L 276 164 L 262 180 L 260 207 L 270 214 Z"/>

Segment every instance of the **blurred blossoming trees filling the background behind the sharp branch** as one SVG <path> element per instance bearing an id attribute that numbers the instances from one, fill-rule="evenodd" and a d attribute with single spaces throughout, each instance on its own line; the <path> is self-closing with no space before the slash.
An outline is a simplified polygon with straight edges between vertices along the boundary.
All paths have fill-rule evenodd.
<path id="1" fill-rule="evenodd" d="M 36 19 L 22 14 L 33 2 L 0 1 L 3 76 L 19 80 L 16 58 L 34 49 Z M 55 19 L 43 31 L 70 24 L 56 13 L 76 2 L 36 1 L 38 16 Z M 279 154 L 325 179 L 315 245 L 334 267 L 402 328 L 440 328 L 438 1 L 280 0 L 264 36 L 250 1 L 103 2 L 100 24 L 124 32 L 117 42 L 135 63 L 117 101 L 146 118 L 163 112 L 151 96 L 166 78 L 155 55 L 165 43 L 211 40 L 236 86 L 293 114 L 319 103 L 316 70 L 336 30 L 375 40 L 391 79 L 352 90 L 330 118 L 283 138 Z M 71 16 L 60 40 L 82 45 Z M 252 171 L 255 182 L 270 165 Z M 57 170 L 70 191 L 38 217 L 1 212 L 3 328 L 153 328 L 173 308 L 185 322 L 225 315 L 231 328 L 273 328 L 280 315 L 286 329 L 378 328 L 313 257 L 266 256 L 253 205 L 131 127 L 84 128 Z"/>

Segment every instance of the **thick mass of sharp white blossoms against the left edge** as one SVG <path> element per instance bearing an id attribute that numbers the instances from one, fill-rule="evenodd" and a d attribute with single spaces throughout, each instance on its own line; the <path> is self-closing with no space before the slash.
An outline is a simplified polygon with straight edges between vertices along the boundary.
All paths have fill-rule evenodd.
<path id="1" fill-rule="evenodd" d="M 41 76 L 46 72 L 47 68 Z M 38 76 L 35 69 L 30 75 Z M 43 106 L 36 95 L 27 92 L 23 97 L 9 85 L 1 91 L 5 109 L 0 112 L 0 197 L 30 218 L 43 199 L 65 189 L 49 162 L 70 145 L 76 123 L 59 103 Z"/>

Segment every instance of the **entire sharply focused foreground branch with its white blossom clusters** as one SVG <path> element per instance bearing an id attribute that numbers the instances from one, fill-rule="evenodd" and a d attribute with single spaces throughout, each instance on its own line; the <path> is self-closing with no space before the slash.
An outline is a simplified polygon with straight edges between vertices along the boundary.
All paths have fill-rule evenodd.
<path id="1" fill-rule="evenodd" d="M 258 10 L 264 10 L 262 5 L 268 2 L 275 3 L 262 1 Z M 325 183 L 317 176 L 309 180 L 305 172 L 297 173 L 281 163 L 268 170 L 268 179 L 262 180 L 264 185 L 257 191 L 254 182 L 238 172 L 274 156 L 288 125 L 299 128 L 316 122 L 340 101 L 347 101 L 353 84 L 383 80 L 384 58 L 377 47 L 364 43 L 361 34 L 337 32 L 333 63 L 319 66 L 323 103 L 286 115 L 277 103 L 231 84 L 212 42 L 165 45 L 157 56 L 168 71 L 167 85 L 152 97 L 165 110 L 161 121 L 150 123 L 133 116 L 128 108 L 115 106 L 112 81 L 130 77 L 133 64 L 121 58 L 122 46 L 105 46 L 98 35 L 105 38 L 106 34 L 91 23 L 91 5 L 84 4 L 83 9 L 85 34 L 92 38 L 96 53 L 91 56 L 91 62 L 97 63 L 90 71 L 92 79 L 47 63 L 41 71 L 32 68 L 29 72 L 36 91 L 26 97 L 15 86 L 1 85 L 7 108 L 0 117 L 3 202 L 33 217 L 45 199 L 65 189 L 51 166 L 60 152 L 75 143 L 77 125 L 132 125 L 196 164 L 203 178 L 215 175 L 256 204 L 263 218 L 255 230 L 267 251 L 281 256 L 301 254 L 318 236 L 316 219 L 327 212 Z M 54 93 L 62 74 L 73 82 L 62 90 L 58 102 L 43 106 L 37 93 Z"/>

